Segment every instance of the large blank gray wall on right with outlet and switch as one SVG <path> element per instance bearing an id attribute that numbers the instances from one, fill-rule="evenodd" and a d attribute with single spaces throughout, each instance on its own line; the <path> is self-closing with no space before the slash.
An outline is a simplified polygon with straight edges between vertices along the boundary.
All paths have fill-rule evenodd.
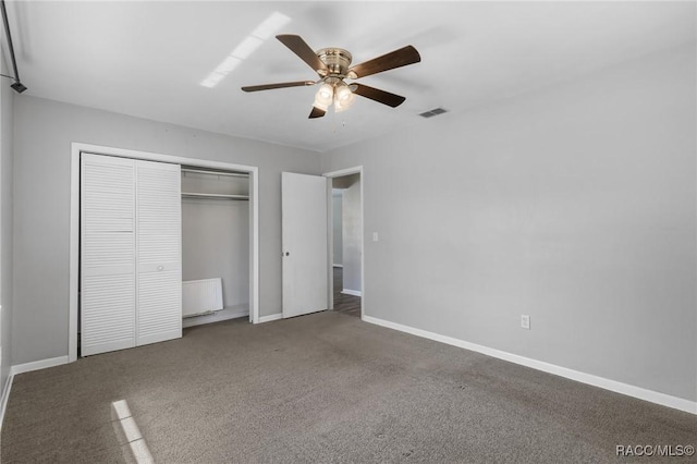
<path id="1" fill-rule="evenodd" d="M 697 400 L 695 53 L 331 152 L 380 233 L 365 314 Z"/>

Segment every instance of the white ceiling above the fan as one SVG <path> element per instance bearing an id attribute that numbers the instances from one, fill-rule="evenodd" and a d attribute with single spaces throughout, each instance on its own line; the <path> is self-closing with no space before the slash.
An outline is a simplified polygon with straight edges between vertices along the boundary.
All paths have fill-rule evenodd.
<path id="1" fill-rule="evenodd" d="M 25 95 L 317 151 L 430 124 L 454 112 L 695 40 L 695 2 L 63 2 L 8 3 Z M 405 45 L 421 62 L 359 80 L 403 95 L 357 98 L 308 120 L 315 80 L 274 38 L 215 88 L 200 82 L 273 12 L 278 34 L 341 47 L 359 63 Z M 21 97 L 20 97 L 21 98 Z"/>

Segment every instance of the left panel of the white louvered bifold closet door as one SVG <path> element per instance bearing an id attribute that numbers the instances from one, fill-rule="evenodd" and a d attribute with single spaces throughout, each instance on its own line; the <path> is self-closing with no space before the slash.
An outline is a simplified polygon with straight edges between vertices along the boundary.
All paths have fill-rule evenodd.
<path id="1" fill-rule="evenodd" d="M 82 355 L 135 346 L 135 162 L 81 160 Z"/>

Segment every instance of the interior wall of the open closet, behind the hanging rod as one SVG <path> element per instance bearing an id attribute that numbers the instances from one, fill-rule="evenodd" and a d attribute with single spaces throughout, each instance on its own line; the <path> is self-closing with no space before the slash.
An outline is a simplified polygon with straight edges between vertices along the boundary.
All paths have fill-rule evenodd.
<path id="1" fill-rule="evenodd" d="M 224 308 L 184 327 L 249 314 L 248 176 L 197 171 L 182 167 L 182 280 L 221 278 Z"/>

